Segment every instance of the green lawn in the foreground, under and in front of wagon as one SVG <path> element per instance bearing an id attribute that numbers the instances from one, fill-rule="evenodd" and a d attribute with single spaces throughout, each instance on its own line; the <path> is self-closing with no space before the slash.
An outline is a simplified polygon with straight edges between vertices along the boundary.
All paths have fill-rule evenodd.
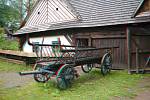
<path id="1" fill-rule="evenodd" d="M 5 67 L 10 65 L 3 64 L 6 64 Z M 137 93 L 137 83 L 144 77 L 150 75 L 128 75 L 126 71 L 112 71 L 104 77 L 99 70 L 93 70 L 76 79 L 67 90 L 57 89 L 54 81 L 45 84 L 33 82 L 24 87 L 1 89 L 0 100 L 110 100 L 114 96 L 132 98 Z"/>

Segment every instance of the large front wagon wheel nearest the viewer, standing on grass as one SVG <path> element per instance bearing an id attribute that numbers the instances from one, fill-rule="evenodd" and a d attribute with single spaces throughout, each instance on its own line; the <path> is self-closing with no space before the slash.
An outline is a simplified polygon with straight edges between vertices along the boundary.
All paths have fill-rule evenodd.
<path id="1" fill-rule="evenodd" d="M 74 69 L 68 65 L 63 65 L 57 72 L 56 80 L 59 89 L 64 90 L 71 86 L 74 79 Z"/>

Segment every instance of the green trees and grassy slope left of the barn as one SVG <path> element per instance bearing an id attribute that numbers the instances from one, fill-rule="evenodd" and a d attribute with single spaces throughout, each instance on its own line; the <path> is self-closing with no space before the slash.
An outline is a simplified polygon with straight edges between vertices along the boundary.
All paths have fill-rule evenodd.
<path id="1" fill-rule="evenodd" d="M 0 0 L 0 49 L 18 50 L 18 41 L 7 39 L 4 29 L 15 32 L 31 11 L 36 0 Z M 6 32 L 7 33 L 7 32 Z"/>

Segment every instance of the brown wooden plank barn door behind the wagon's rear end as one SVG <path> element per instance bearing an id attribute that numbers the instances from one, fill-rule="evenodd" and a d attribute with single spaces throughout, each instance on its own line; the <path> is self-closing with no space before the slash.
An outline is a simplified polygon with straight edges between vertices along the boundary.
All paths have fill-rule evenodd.
<path id="1" fill-rule="evenodd" d="M 101 47 L 115 47 L 118 46 L 118 49 L 113 50 L 113 68 L 114 69 L 125 69 L 127 68 L 126 60 L 126 45 L 125 38 L 102 38 L 102 39 L 92 39 L 92 46 L 101 48 Z"/>

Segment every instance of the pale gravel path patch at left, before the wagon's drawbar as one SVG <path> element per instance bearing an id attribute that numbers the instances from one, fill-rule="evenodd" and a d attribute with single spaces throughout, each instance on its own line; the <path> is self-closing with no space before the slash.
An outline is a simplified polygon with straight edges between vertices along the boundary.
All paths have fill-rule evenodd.
<path id="1" fill-rule="evenodd" d="M 0 83 L 4 88 L 21 87 L 33 82 L 31 75 L 20 76 L 15 72 L 0 72 Z"/>

